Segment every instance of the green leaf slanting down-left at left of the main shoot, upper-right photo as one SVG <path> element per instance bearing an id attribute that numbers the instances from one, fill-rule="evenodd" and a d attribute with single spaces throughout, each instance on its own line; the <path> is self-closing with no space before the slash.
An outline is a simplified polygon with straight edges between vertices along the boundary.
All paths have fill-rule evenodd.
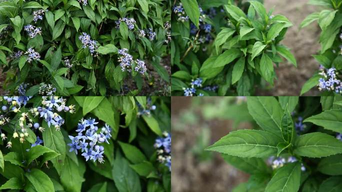
<path id="1" fill-rule="evenodd" d="M 215 62 L 211 66 L 207 66 L 207 67 L 202 66 L 200 70 L 203 70 L 204 68 L 224 66 L 232 62 L 235 58 L 241 56 L 241 54 L 242 54 L 241 50 L 237 48 L 226 50 L 216 58 Z"/>

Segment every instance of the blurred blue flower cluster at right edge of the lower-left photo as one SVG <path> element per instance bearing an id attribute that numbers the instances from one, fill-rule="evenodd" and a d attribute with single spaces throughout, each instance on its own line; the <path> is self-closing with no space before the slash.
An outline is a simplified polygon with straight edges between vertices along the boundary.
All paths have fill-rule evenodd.
<path id="1" fill-rule="evenodd" d="M 162 137 L 155 139 L 154 147 L 158 154 L 157 160 L 171 171 L 171 134 L 164 131 Z"/>

